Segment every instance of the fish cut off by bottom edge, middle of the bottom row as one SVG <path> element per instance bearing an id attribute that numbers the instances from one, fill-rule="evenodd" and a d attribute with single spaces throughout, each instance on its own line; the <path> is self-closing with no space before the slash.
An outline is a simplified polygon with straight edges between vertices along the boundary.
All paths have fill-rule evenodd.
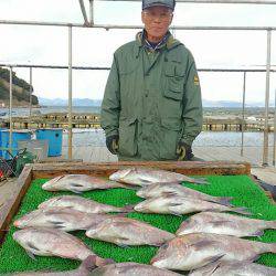
<path id="1" fill-rule="evenodd" d="M 167 269 L 157 268 L 151 265 L 137 264 L 137 263 L 119 263 L 110 264 L 95 268 L 91 276 L 178 276 L 181 274 L 173 273 Z"/>

